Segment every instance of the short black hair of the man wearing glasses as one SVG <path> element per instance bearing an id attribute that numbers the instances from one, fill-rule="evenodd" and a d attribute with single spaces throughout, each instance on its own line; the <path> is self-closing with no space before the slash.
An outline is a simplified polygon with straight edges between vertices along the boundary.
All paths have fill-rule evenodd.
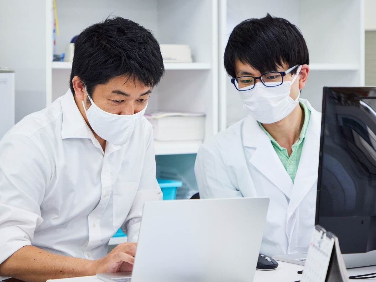
<path id="1" fill-rule="evenodd" d="M 232 30 L 224 51 L 224 67 L 232 77 L 236 77 L 236 60 L 266 73 L 283 63 L 289 68 L 309 64 L 309 55 L 302 32 L 294 24 L 267 14 L 242 21 Z"/>

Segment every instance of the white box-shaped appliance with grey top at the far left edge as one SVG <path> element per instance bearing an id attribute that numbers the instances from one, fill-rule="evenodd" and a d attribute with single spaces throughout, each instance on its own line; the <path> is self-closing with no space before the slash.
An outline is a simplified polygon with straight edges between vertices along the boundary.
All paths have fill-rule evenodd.
<path id="1" fill-rule="evenodd" d="M 0 67 L 0 139 L 14 126 L 14 70 Z"/>

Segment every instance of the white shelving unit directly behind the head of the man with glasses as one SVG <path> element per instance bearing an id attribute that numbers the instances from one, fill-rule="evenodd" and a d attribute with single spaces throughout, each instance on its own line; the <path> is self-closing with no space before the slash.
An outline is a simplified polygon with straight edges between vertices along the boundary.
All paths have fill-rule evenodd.
<path id="1" fill-rule="evenodd" d="M 363 0 L 219 0 L 220 130 L 246 116 L 238 92 L 223 65 L 232 29 L 247 18 L 267 13 L 286 18 L 303 33 L 309 50 L 310 72 L 302 98 L 321 111 L 323 86 L 364 85 Z"/>

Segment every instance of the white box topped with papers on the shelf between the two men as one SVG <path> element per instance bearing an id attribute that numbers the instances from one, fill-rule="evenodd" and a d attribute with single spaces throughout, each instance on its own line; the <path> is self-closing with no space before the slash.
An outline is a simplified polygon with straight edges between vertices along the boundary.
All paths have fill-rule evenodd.
<path id="1" fill-rule="evenodd" d="M 205 136 L 205 114 L 155 112 L 145 117 L 152 123 L 157 141 L 194 141 Z"/>

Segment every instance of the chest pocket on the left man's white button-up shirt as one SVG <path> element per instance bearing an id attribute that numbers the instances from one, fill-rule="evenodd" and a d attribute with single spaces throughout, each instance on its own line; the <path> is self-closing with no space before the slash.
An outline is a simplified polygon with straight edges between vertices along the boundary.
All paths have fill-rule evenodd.
<path id="1" fill-rule="evenodd" d="M 112 190 L 113 218 L 112 224 L 116 228 L 126 220 L 133 201 L 136 197 L 139 182 L 116 182 Z"/>

